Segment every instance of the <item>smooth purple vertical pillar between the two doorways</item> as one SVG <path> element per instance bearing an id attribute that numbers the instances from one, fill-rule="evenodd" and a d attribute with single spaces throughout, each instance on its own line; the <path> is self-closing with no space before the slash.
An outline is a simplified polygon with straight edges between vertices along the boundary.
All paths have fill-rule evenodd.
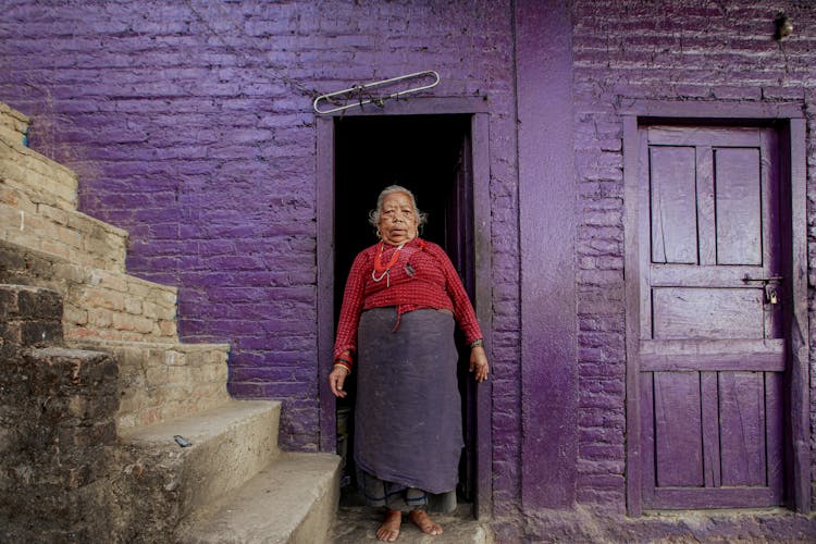
<path id="1" fill-rule="evenodd" d="M 517 10 L 522 504 L 568 508 L 579 437 L 570 32 L 561 10 L 536 2 Z M 545 95 L 534 90 L 542 87 Z"/>

